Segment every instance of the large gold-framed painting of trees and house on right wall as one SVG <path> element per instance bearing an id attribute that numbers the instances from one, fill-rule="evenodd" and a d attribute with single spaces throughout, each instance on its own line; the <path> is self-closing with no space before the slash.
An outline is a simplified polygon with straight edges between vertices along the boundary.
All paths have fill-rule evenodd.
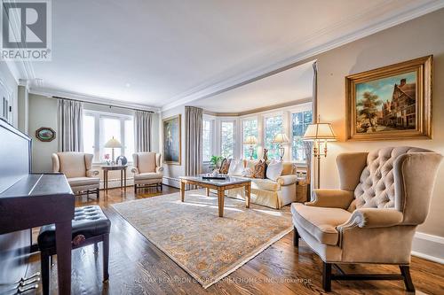
<path id="1" fill-rule="evenodd" d="M 432 138 L 432 56 L 345 78 L 347 140 Z"/>

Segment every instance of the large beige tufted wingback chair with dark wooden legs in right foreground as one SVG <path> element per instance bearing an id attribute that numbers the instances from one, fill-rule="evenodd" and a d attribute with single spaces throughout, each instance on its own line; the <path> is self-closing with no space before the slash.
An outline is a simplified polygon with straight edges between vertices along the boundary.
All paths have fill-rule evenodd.
<path id="1" fill-rule="evenodd" d="M 325 291 L 332 279 L 400 279 L 415 290 L 409 273 L 412 239 L 427 216 L 441 158 L 414 147 L 340 154 L 340 189 L 313 190 L 311 202 L 292 204 L 294 245 L 302 237 L 321 257 Z M 395 264 L 401 274 L 346 275 L 341 263 Z"/>

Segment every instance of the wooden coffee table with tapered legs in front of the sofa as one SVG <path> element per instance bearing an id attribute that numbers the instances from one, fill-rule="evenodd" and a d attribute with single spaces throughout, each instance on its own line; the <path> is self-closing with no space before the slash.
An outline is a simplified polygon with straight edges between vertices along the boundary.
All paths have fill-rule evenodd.
<path id="1" fill-rule="evenodd" d="M 237 188 L 245 188 L 245 206 L 250 208 L 251 181 L 250 179 L 227 176 L 225 180 L 203 179 L 202 175 L 181 176 L 180 177 L 180 198 L 185 201 L 185 185 L 194 184 L 207 189 L 207 196 L 210 190 L 218 191 L 218 213 L 219 217 L 224 217 L 225 191 Z"/>

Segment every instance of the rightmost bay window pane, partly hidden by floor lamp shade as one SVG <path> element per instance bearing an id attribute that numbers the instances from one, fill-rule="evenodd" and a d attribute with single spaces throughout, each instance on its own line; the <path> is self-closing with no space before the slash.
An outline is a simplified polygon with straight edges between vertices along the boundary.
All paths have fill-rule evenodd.
<path id="1" fill-rule="evenodd" d="M 294 161 L 305 162 L 304 142 L 302 141 L 302 137 L 304 136 L 308 125 L 312 123 L 312 120 L 312 111 L 292 113 L 291 126 L 293 138 L 291 148 Z"/>

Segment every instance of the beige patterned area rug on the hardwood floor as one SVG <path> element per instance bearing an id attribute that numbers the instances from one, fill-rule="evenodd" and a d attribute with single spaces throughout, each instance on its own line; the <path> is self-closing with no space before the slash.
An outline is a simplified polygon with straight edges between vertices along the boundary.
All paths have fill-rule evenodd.
<path id="1" fill-rule="evenodd" d="M 285 236 L 291 229 L 289 207 L 274 210 L 234 198 L 225 199 L 218 217 L 218 198 L 204 190 L 144 198 L 113 205 L 147 239 L 184 268 L 203 288 L 210 287 Z"/>

